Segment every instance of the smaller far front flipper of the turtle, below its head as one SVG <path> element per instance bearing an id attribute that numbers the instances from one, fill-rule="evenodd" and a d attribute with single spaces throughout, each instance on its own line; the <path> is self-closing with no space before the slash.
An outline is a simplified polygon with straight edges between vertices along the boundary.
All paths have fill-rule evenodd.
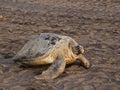
<path id="1" fill-rule="evenodd" d="M 77 59 L 81 61 L 82 65 L 83 65 L 85 68 L 88 69 L 88 68 L 91 67 L 91 63 L 85 58 L 84 55 L 80 54 Z"/>

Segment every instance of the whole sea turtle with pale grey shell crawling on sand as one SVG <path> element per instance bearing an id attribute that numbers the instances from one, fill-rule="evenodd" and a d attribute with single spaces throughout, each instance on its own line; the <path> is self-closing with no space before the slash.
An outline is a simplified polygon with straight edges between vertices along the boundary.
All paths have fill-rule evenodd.
<path id="1" fill-rule="evenodd" d="M 13 57 L 20 65 L 52 64 L 36 79 L 54 79 L 65 69 L 66 64 L 80 60 L 85 68 L 90 62 L 82 55 L 84 49 L 69 36 L 54 33 L 41 33 L 30 41 Z"/>

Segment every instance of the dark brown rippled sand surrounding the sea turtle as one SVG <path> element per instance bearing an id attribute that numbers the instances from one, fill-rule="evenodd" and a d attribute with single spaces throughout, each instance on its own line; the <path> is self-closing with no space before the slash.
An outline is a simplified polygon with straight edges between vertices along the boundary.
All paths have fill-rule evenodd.
<path id="1" fill-rule="evenodd" d="M 15 67 L 9 58 L 41 32 L 76 39 L 92 67 L 49 81 L 33 78 L 47 66 Z M 120 1 L 0 0 L 0 90 L 120 90 Z"/>

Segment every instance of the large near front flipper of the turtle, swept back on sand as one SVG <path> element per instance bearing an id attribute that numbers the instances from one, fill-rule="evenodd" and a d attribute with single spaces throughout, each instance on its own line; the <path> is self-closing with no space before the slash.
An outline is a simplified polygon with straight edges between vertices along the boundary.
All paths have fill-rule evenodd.
<path id="1" fill-rule="evenodd" d="M 41 75 L 35 76 L 36 79 L 54 79 L 58 77 L 65 69 L 66 62 L 63 55 L 58 55 L 53 64 Z"/>

